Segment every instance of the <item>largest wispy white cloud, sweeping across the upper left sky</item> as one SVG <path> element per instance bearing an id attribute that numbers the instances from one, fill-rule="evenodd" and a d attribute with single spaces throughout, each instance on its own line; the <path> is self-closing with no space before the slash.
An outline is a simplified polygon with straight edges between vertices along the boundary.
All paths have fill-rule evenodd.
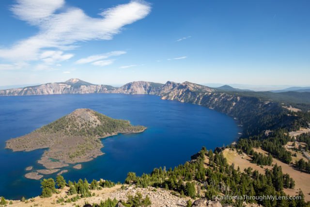
<path id="1" fill-rule="evenodd" d="M 76 43 L 81 41 L 110 40 L 125 25 L 146 17 L 151 7 L 142 0 L 132 0 L 93 18 L 79 8 L 64 7 L 64 0 L 16 0 L 11 10 L 17 18 L 38 27 L 39 32 L 10 48 L 1 48 L 0 58 L 36 61 L 40 60 L 45 48 L 64 51 L 77 48 Z M 69 58 L 69 54 L 60 56 L 60 59 L 56 58 L 58 61 Z M 53 60 L 49 57 L 44 61 L 49 63 Z"/>

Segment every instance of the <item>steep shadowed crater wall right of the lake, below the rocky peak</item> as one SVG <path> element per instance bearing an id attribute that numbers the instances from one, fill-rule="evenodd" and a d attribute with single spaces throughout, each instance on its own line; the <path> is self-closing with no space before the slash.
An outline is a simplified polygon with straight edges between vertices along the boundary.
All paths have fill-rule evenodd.
<path id="1" fill-rule="evenodd" d="M 276 127 L 290 128 L 296 119 L 295 116 L 288 115 L 279 103 L 263 101 L 257 97 L 214 92 L 213 89 L 193 88 L 191 84 L 187 84 L 182 83 L 172 88 L 168 93 L 162 94 L 161 98 L 202 105 L 235 117 L 243 125 L 245 136 Z"/>

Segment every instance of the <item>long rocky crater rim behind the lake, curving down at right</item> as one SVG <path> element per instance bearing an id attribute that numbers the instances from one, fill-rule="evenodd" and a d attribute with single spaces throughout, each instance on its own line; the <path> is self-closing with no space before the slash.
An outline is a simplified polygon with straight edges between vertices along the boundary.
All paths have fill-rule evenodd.
<path id="1" fill-rule="evenodd" d="M 68 80 L 68 82 L 75 84 L 85 81 L 76 79 Z M 296 116 L 292 116 L 285 107 L 292 106 L 302 111 L 310 110 L 309 92 L 223 91 L 188 81 L 183 83 L 167 81 L 165 84 L 134 81 L 121 87 L 109 85 L 72 86 L 64 82 L 47 83 L 22 89 L 0 90 L 0 96 L 90 93 L 148 94 L 160 96 L 161 99 L 202 105 L 238 119 L 239 124 L 243 126 L 244 136 L 256 135 L 263 130 L 271 130 L 276 127 L 291 129 L 300 126 L 308 127 L 306 122 L 294 122 L 297 119 Z M 265 119 L 265 114 L 269 114 L 268 120 Z"/>

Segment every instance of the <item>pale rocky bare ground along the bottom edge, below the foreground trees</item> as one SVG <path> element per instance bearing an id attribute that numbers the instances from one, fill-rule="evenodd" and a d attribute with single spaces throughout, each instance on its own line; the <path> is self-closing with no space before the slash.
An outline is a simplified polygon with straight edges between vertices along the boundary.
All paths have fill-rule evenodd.
<path id="1" fill-rule="evenodd" d="M 27 203 L 21 201 L 13 201 L 13 205 L 10 205 L 10 207 L 72 207 L 76 204 L 79 206 L 83 206 L 85 203 L 99 204 L 100 201 L 105 201 L 108 198 L 112 200 L 116 198 L 117 200 L 126 201 L 127 194 L 136 195 L 137 192 L 140 192 L 143 198 L 145 198 L 146 195 L 150 197 L 150 200 L 152 202 L 151 207 L 185 207 L 187 200 L 193 201 L 189 197 L 180 198 L 178 196 L 172 195 L 170 191 L 166 191 L 163 189 L 155 189 L 152 187 L 149 187 L 147 189 L 128 187 L 127 189 L 122 190 L 121 185 L 117 185 L 112 188 L 92 190 L 91 192 L 95 193 L 95 196 L 89 198 L 81 198 L 77 202 L 57 203 L 57 200 L 59 198 L 66 196 L 66 191 L 68 191 L 67 187 L 60 191 L 59 194 L 54 193 L 50 198 L 40 198 L 38 196 L 34 198 L 34 201 L 31 201 L 31 199 L 27 200 Z M 71 197 L 73 197 L 73 195 L 68 196 L 68 198 Z"/>

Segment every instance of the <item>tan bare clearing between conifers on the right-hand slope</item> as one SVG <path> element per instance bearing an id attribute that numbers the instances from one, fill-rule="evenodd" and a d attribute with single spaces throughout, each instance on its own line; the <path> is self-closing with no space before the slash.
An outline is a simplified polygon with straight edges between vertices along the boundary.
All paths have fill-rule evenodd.
<path id="1" fill-rule="evenodd" d="M 261 148 L 254 149 L 256 152 L 261 152 L 264 154 L 268 154 L 266 151 L 264 151 Z M 251 158 L 248 155 L 238 155 L 236 151 L 232 151 L 230 149 L 225 149 L 223 151 L 224 157 L 227 159 L 229 164 L 234 163 L 235 168 L 238 166 L 241 170 L 244 170 L 248 167 L 253 168 L 253 170 L 258 170 L 260 173 L 264 174 L 264 169 L 272 169 L 272 166 L 263 166 L 261 168 L 260 166 L 253 164 L 250 162 Z M 294 189 L 284 189 L 284 192 L 290 195 L 295 195 L 298 189 L 301 189 L 305 195 L 305 201 L 310 201 L 310 174 L 307 173 L 301 173 L 300 171 L 294 169 L 292 165 L 285 164 L 281 162 L 279 159 L 273 158 L 273 164 L 278 164 L 278 166 L 282 167 L 282 172 L 284 174 L 289 174 L 295 181 L 295 188 Z"/>

